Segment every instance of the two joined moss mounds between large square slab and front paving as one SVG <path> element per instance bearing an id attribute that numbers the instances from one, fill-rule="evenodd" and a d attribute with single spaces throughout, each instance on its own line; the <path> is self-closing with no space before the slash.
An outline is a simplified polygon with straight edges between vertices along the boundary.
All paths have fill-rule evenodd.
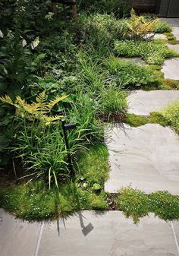
<path id="1" fill-rule="evenodd" d="M 179 198 L 168 191 L 144 194 L 143 191 L 129 186 L 118 193 L 118 210 L 131 217 L 134 223 L 138 223 L 141 217 L 149 213 L 154 213 L 165 221 L 179 219 Z"/>

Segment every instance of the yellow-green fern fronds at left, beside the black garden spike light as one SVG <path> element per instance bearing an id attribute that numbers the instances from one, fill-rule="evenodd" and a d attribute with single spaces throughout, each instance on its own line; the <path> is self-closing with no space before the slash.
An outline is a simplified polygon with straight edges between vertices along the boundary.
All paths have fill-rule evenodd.
<path id="1" fill-rule="evenodd" d="M 21 118 L 26 117 L 30 121 L 38 119 L 39 121 L 49 125 L 51 122 L 55 122 L 59 119 L 62 119 L 63 115 L 50 116 L 52 108 L 59 103 L 61 100 L 67 98 L 68 95 L 56 96 L 49 103 L 46 102 L 46 91 L 42 91 L 36 96 L 36 103 L 27 103 L 25 100 L 22 100 L 20 96 L 16 97 L 15 102 L 11 100 L 11 97 L 8 95 L 0 96 L 2 103 L 7 103 L 16 108 L 16 114 Z M 49 115 L 48 115 L 49 114 Z"/>

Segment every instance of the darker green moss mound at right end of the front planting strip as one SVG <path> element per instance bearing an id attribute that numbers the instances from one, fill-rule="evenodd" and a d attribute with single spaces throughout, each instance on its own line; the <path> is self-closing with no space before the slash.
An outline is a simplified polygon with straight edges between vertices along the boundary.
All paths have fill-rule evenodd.
<path id="1" fill-rule="evenodd" d="M 179 219 L 179 198 L 168 191 L 157 191 L 149 195 L 150 209 L 162 220 Z"/>

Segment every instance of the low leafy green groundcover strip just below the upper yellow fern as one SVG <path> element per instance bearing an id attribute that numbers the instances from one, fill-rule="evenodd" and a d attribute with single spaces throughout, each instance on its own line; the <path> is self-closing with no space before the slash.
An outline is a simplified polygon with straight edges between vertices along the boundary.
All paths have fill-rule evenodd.
<path id="1" fill-rule="evenodd" d="M 165 58 L 177 57 L 178 53 L 169 49 L 161 41 L 117 41 L 115 42 L 115 52 L 121 56 L 141 57 L 150 65 L 161 65 Z"/>

